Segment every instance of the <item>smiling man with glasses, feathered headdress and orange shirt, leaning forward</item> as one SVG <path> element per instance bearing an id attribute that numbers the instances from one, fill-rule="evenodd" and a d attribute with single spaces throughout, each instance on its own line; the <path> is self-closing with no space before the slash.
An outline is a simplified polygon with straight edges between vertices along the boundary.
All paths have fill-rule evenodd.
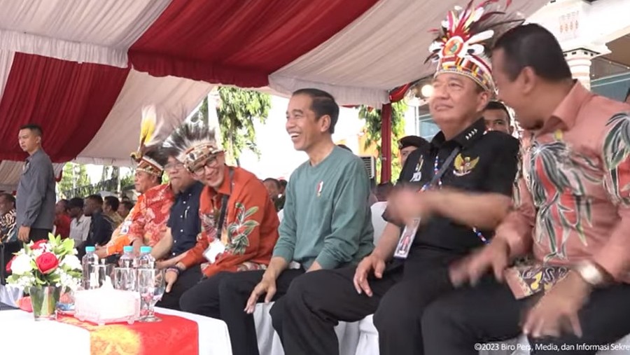
<path id="1" fill-rule="evenodd" d="M 204 305 L 211 293 L 218 290 L 216 275 L 220 272 L 267 267 L 278 239 L 279 219 L 262 182 L 245 169 L 225 164 L 225 155 L 217 144 L 214 130 L 207 125 L 183 123 L 165 145 L 171 152 L 169 165 L 173 166 L 169 171 L 177 170 L 176 173 L 181 174 L 180 169 L 186 169 L 204 185 L 199 193 L 196 216 L 201 233 L 196 243 L 182 249 L 181 244 L 190 242 L 186 230 L 171 230 L 164 239 L 166 245 L 160 243 L 153 255 L 158 259 L 168 257 L 160 265 L 167 267 L 169 307 L 174 307 L 181 293 L 193 286 L 183 298 L 187 298 L 188 304 Z M 192 219 L 197 213 L 190 210 L 190 218 L 186 216 L 186 208 L 179 206 L 185 198 L 178 197 L 174 211 L 183 207 L 183 213 L 172 213 L 169 225 L 182 218 Z M 222 275 L 229 277 L 229 274 Z M 207 279 L 195 285 L 202 276 Z"/>

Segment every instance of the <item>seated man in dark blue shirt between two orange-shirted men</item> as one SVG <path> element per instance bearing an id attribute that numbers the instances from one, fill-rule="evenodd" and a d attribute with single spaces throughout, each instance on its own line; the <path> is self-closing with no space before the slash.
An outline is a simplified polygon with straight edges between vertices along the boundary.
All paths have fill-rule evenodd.
<path id="1" fill-rule="evenodd" d="M 153 249 L 153 256 L 156 259 L 167 259 L 158 262 L 158 267 L 167 269 L 167 289 L 162 300 L 158 302 L 158 307 L 179 309 L 181 295 L 202 278 L 199 266 L 180 270 L 175 265 L 186 256 L 189 249 L 193 249 L 197 243 L 197 235 L 201 232 L 199 198 L 204 185 L 195 181 L 174 155 L 169 154 L 165 172 L 169 174 L 171 188 L 177 197 L 171 207 L 165 237 Z"/>

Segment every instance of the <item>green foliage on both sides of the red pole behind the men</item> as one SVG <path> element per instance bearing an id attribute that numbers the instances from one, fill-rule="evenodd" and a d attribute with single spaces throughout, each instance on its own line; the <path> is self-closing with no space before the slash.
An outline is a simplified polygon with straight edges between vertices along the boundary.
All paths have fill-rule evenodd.
<path id="1" fill-rule="evenodd" d="M 405 111 L 407 104 L 399 101 L 391 104 L 391 147 L 392 147 L 392 165 L 391 165 L 391 181 L 394 182 L 400 175 L 400 161 L 398 156 L 398 139 L 405 134 Z M 369 109 L 367 106 L 361 106 L 359 117 L 365 120 L 365 149 L 374 144 L 377 148 L 379 157 L 381 156 L 381 110 Z M 377 172 L 381 171 L 381 160 L 377 159 Z M 377 174 L 380 179 L 380 173 Z M 381 181 L 383 182 L 383 181 Z"/>

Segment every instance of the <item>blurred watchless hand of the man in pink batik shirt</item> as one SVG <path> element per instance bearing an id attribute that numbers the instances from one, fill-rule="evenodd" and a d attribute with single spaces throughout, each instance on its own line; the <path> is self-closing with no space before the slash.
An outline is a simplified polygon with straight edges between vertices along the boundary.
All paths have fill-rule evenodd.
<path id="1" fill-rule="evenodd" d="M 454 286 L 461 286 L 466 281 L 476 284 L 488 270 L 492 270 L 494 277 L 503 281 L 503 272 L 509 263 L 510 246 L 504 239 L 494 238 L 477 253 L 451 265 L 449 276 Z"/>

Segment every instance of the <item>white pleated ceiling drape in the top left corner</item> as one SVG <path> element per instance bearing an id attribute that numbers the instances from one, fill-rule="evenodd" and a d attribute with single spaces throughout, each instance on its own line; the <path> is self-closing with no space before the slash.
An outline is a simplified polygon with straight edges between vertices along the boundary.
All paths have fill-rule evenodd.
<path id="1" fill-rule="evenodd" d="M 0 0 L 0 50 L 127 67 L 171 0 Z"/>

